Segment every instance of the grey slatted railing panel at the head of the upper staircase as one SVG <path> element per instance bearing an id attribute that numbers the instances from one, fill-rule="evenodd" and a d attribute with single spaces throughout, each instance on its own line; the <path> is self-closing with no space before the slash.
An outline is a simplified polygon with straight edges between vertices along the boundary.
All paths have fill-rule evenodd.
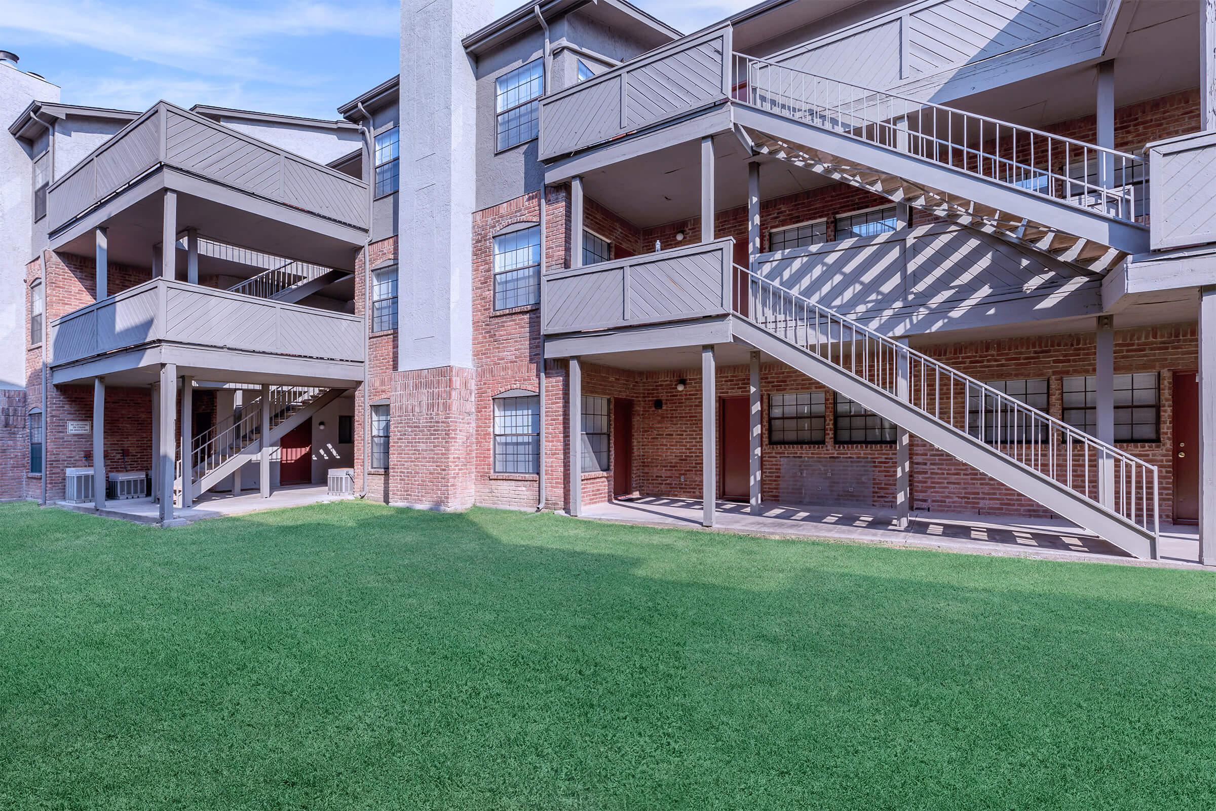
<path id="1" fill-rule="evenodd" d="M 682 39 L 540 102 L 540 158 L 609 141 L 725 101 L 731 27 Z"/>

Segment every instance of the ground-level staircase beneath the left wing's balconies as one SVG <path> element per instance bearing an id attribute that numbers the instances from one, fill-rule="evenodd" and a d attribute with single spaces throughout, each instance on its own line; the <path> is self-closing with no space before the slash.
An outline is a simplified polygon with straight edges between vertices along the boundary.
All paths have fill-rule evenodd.
<path id="1" fill-rule="evenodd" d="M 344 389 L 321 389 L 275 385 L 270 389 L 271 444 L 282 439 L 302 422 L 337 399 Z M 261 452 L 261 398 L 244 405 L 240 415 L 224 419 L 195 435 L 190 452 L 190 485 L 192 499 L 214 488 L 225 478 L 253 461 Z M 182 492 L 182 454 L 178 447 L 174 499 L 180 503 Z"/>

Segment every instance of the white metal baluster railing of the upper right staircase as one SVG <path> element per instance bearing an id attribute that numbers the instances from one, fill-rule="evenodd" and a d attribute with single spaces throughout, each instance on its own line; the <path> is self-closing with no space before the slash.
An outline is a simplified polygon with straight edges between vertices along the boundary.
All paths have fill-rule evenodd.
<path id="1" fill-rule="evenodd" d="M 734 53 L 739 103 L 1124 221 L 1145 213 L 1143 158 Z"/>

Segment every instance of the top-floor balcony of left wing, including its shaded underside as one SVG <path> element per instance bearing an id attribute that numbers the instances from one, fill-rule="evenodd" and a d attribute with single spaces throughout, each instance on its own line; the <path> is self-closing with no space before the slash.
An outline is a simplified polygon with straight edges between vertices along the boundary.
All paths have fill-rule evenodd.
<path id="1" fill-rule="evenodd" d="M 182 227 L 344 270 L 367 235 L 362 181 L 162 101 L 50 186 L 51 248 L 91 254 L 108 227 L 111 261 L 146 265 L 161 191 Z"/>

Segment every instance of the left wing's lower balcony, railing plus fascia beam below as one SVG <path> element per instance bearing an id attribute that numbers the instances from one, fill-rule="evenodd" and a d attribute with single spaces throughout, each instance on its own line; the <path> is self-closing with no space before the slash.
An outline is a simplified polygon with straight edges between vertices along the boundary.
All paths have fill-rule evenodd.
<path id="1" fill-rule="evenodd" d="M 56 319 L 50 347 L 56 384 L 146 377 L 162 362 L 204 379 L 224 372 L 233 382 L 248 374 L 259 383 L 308 377 L 340 384 L 362 377 L 364 320 L 153 278 Z"/>

